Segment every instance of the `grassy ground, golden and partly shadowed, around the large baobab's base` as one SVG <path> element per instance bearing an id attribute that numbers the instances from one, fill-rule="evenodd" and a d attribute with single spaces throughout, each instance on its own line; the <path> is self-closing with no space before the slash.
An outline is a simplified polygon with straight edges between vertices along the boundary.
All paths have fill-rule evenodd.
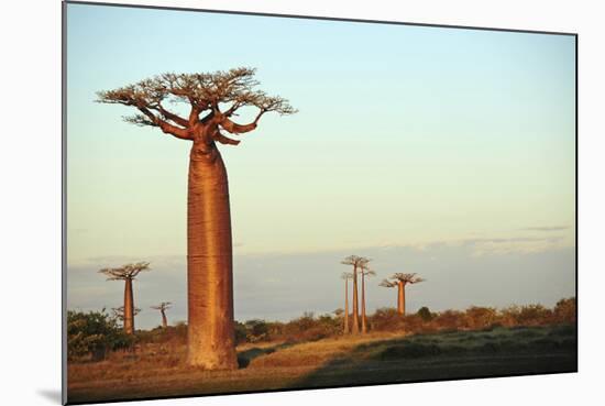
<path id="1" fill-rule="evenodd" d="M 283 388 L 364 385 L 573 372 L 572 326 L 495 328 L 403 336 L 370 333 L 314 342 L 238 348 L 240 369 L 185 366 L 185 347 L 114 353 L 107 361 L 70 363 L 68 402 L 135 399 Z"/>

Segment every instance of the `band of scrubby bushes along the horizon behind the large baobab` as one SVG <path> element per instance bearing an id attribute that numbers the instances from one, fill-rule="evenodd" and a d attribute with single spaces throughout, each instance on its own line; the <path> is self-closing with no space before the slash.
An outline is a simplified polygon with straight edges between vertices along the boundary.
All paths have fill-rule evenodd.
<path id="1" fill-rule="evenodd" d="M 575 298 L 561 299 L 553 308 L 541 305 L 510 306 L 503 309 L 472 306 L 466 310 L 433 312 L 421 307 L 417 312 L 402 315 L 396 308 L 381 308 L 367 316 L 369 332 L 431 333 L 468 330 L 490 330 L 498 327 L 540 327 L 575 323 Z M 352 316 L 349 316 L 352 319 Z M 170 352 L 187 343 L 187 325 L 136 330 L 125 334 L 120 319 L 105 310 L 68 312 L 68 354 L 72 361 L 106 358 L 111 351 L 133 351 L 140 347 Z M 238 344 L 261 342 L 305 342 L 324 338 L 346 337 L 342 309 L 316 316 L 305 312 L 290 321 L 252 319 L 235 321 Z M 155 351 L 155 350 L 154 350 Z"/>

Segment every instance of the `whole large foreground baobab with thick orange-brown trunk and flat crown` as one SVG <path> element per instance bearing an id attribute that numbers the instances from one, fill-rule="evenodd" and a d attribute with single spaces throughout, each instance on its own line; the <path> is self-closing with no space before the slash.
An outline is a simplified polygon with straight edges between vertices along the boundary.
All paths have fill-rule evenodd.
<path id="1" fill-rule="evenodd" d="M 98 92 L 98 101 L 133 107 L 127 122 L 158 128 L 191 143 L 187 193 L 188 354 L 191 365 L 235 369 L 231 215 L 227 171 L 217 143 L 238 145 L 265 113 L 292 114 L 287 100 L 256 89 L 254 69 L 163 74 L 134 85 Z M 186 114 L 168 110 L 185 103 Z M 242 110 L 243 109 L 243 110 Z M 238 113 L 253 117 L 246 124 Z"/>

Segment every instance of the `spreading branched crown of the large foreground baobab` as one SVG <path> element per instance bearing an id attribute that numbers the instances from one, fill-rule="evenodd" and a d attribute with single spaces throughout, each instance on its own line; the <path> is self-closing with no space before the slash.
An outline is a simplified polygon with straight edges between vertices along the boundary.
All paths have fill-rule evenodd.
<path id="1" fill-rule="evenodd" d="M 268 96 L 256 86 L 255 69 L 240 67 L 227 72 L 175 74 L 166 73 L 113 90 L 97 92 L 98 102 L 132 106 L 140 113 L 125 117 L 127 122 L 136 125 L 158 127 L 163 132 L 178 139 L 195 141 L 210 128 L 208 133 L 215 141 L 237 145 L 239 141 L 220 132 L 231 134 L 252 131 L 266 112 L 293 114 L 294 109 L 286 99 Z M 169 103 L 187 103 L 187 117 L 168 109 Z M 238 124 L 231 118 L 244 107 L 256 108 L 254 120 Z"/>

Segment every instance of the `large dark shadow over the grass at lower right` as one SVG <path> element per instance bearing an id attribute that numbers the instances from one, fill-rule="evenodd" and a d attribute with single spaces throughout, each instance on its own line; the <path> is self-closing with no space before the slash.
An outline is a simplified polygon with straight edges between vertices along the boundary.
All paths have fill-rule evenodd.
<path id="1" fill-rule="evenodd" d="M 576 341 L 540 333 L 459 332 L 356 345 L 293 387 L 331 387 L 578 371 Z"/>

